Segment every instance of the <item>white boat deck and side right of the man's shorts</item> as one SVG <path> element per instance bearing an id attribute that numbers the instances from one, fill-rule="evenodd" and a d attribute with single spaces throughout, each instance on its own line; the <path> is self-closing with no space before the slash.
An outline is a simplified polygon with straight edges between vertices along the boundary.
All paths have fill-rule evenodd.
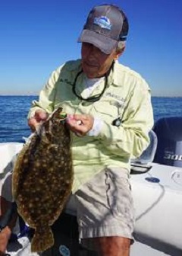
<path id="1" fill-rule="evenodd" d="M 158 183 L 146 181 L 158 178 Z M 182 255 L 182 168 L 152 163 L 145 174 L 131 175 L 136 209 L 136 238 L 132 247 L 151 255 Z M 157 252 L 156 252 L 157 251 Z M 141 254 L 144 255 L 144 254 Z"/>

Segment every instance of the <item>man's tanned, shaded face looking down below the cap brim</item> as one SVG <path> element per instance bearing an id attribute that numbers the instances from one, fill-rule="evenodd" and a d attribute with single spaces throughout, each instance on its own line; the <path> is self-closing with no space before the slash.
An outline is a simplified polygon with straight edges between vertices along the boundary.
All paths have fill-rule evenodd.
<path id="1" fill-rule="evenodd" d="M 113 60 L 118 59 L 116 50 L 105 54 L 91 43 L 82 43 L 81 56 L 83 72 L 88 78 L 99 78 L 105 75 Z"/>

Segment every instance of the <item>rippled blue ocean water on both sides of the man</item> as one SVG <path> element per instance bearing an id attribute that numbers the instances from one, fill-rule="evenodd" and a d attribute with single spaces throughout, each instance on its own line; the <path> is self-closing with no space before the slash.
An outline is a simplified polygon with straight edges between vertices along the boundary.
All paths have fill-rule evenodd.
<path id="1" fill-rule="evenodd" d="M 0 142 L 23 142 L 30 136 L 27 113 L 37 96 L 0 96 Z M 182 117 L 182 98 L 152 98 L 155 121 Z"/>

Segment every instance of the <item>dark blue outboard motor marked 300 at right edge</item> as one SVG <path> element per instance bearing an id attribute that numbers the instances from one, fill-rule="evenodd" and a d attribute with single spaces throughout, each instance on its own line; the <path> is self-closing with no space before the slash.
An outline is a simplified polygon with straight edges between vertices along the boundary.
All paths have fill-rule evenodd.
<path id="1" fill-rule="evenodd" d="M 164 117 L 153 128 L 158 137 L 154 162 L 182 167 L 182 117 Z"/>

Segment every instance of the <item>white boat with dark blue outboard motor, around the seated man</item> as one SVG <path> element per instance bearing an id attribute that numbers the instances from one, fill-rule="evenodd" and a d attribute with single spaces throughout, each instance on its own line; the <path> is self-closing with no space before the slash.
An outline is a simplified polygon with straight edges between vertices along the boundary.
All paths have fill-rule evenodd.
<path id="1" fill-rule="evenodd" d="M 151 142 L 148 148 L 131 162 L 130 184 L 136 209 L 136 226 L 130 256 L 182 255 L 181 127 L 182 117 L 157 120 L 149 133 Z M 11 170 L 12 159 L 23 146 L 21 142 L 0 143 L 1 182 Z M 80 247 L 76 216 L 65 213 L 55 222 L 53 231 L 55 240 L 58 240 L 58 245 L 52 248 L 53 256 L 69 256 L 72 255 L 71 250 L 82 250 L 83 256 L 96 256 L 95 252 Z M 30 253 L 29 235 L 17 238 L 17 242 L 19 248 L 14 242 L 8 245 L 9 255 L 38 255 Z M 46 253 L 42 255 L 46 256 Z"/>

